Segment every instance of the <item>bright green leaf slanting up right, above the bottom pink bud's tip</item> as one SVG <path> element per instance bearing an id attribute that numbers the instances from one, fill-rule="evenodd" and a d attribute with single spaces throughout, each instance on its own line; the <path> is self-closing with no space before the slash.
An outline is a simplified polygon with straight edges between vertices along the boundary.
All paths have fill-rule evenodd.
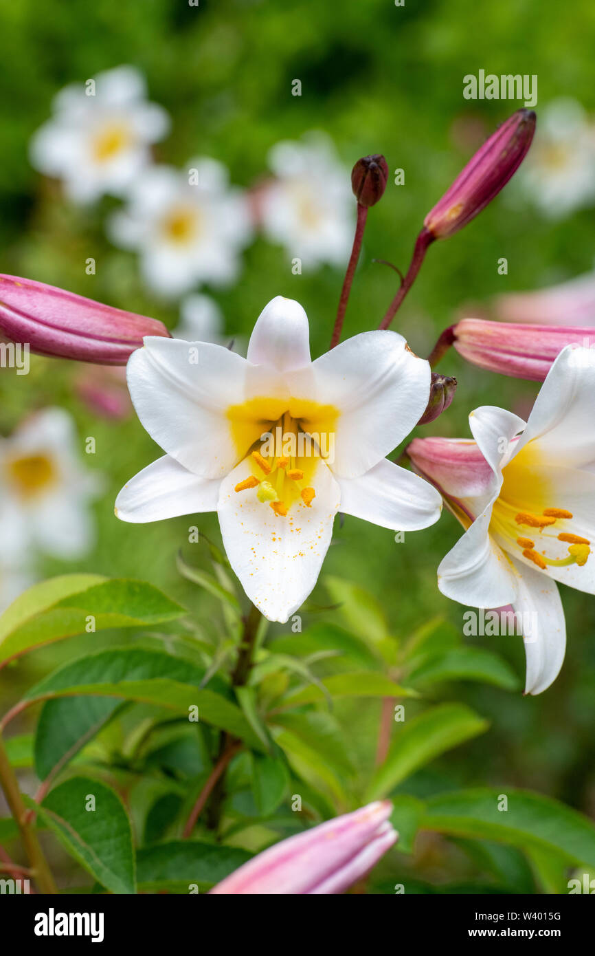
<path id="1" fill-rule="evenodd" d="M 387 796 L 405 777 L 488 728 L 488 722 L 461 704 L 442 704 L 397 725 L 391 749 L 374 773 L 366 802 Z"/>

